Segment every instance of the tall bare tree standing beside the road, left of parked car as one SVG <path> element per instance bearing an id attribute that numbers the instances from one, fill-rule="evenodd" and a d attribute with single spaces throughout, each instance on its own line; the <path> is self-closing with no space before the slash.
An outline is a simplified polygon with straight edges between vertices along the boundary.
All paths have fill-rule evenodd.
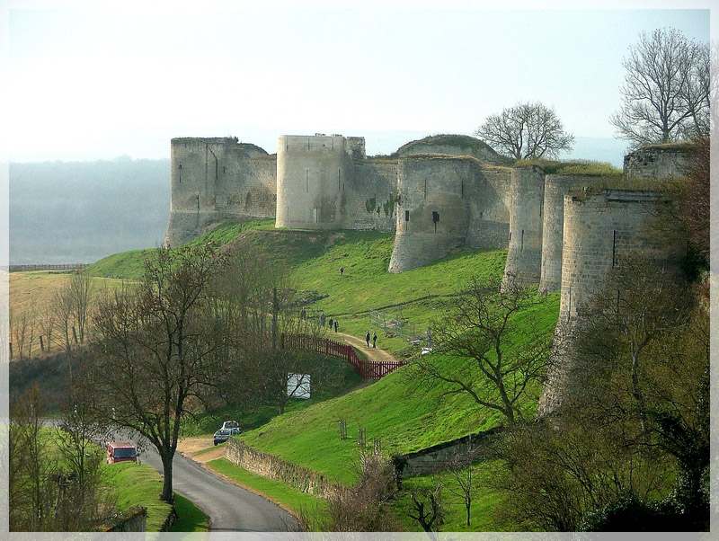
<path id="1" fill-rule="evenodd" d="M 139 288 L 108 295 L 94 317 L 99 342 L 88 381 L 105 415 L 157 449 L 163 501 L 173 501 L 183 417 L 228 372 L 231 334 L 210 302 L 225 262 L 209 245 L 158 249 L 146 259 Z"/>

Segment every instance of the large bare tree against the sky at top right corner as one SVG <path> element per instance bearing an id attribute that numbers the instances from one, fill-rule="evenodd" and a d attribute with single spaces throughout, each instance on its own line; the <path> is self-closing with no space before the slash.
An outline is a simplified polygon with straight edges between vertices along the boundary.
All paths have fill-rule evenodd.
<path id="1" fill-rule="evenodd" d="M 709 46 L 675 29 L 641 33 L 622 65 L 622 108 L 610 122 L 634 146 L 709 134 Z"/>

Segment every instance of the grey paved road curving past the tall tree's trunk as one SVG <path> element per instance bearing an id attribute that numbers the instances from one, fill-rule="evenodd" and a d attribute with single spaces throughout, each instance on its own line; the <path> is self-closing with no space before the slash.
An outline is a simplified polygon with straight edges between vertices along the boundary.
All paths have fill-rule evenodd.
<path id="1" fill-rule="evenodd" d="M 154 449 L 143 452 L 140 459 L 162 473 L 162 462 Z M 212 531 L 288 531 L 295 524 L 288 511 L 211 474 L 179 453 L 173 459 L 173 488 L 205 511 Z"/>

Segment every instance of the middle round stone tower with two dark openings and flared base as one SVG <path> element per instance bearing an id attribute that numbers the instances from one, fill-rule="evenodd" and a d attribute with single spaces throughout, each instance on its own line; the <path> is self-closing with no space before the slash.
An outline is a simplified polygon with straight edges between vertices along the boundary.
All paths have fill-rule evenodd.
<path id="1" fill-rule="evenodd" d="M 399 160 L 390 272 L 420 267 L 466 244 L 464 179 L 472 178 L 472 162 L 473 158 L 436 155 Z"/>

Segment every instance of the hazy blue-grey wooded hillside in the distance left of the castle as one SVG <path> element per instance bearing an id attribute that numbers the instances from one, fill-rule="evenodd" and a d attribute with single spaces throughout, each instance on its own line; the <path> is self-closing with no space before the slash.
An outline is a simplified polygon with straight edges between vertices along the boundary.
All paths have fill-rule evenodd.
<path id="1" fill-rule="evenodd" d="M 10 264 L 94 262 L 164 241 L 170 160 L 10 164 Z"/>

